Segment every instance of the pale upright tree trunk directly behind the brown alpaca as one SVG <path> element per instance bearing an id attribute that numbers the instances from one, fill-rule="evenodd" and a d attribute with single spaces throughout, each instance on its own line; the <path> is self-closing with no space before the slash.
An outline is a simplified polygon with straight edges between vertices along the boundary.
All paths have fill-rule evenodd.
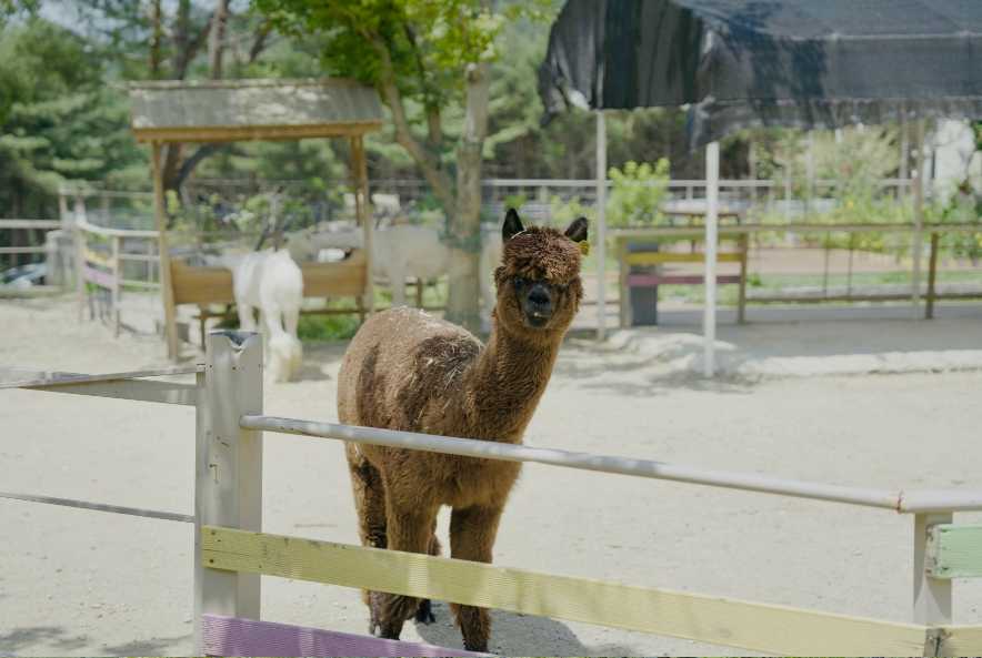
<path id="1" fill-rule="evenodd" d="M 481 328 L 478 272 L 481 253 L 481 152 L 488 134 L 488 64 L 467 70 L 467 115 L 457 154 L 457 216 L 450 231 L 450 295 L 447 318 L 471 332 Z M 455 220 L 455 221 L 454 221 Z"/>

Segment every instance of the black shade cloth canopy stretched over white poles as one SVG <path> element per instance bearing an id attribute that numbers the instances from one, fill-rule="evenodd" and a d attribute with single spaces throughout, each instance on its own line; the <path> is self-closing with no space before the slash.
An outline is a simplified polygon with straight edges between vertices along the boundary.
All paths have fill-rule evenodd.
<path id="1" fill-rule="evenodd" d="M 982 118 L 982 0 L 568 0 L 547 118 L 690 105 L 698 146 L 750 125 Z"/>

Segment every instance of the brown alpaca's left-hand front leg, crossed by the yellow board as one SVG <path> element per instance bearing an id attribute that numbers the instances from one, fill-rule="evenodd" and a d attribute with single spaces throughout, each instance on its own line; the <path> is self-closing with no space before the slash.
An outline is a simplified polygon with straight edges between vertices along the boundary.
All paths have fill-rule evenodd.
<path id="1" fill-rule="evenodd" d="M 390 489 L 385 500 L 389 548 L 407 553 L 429 553 L 437 507 L 421 506 L 414 498 L 393 502 L 394 497 L 397 496 Z M 402 624 L 413 618 L 420 608 L 420 599 L 411 596 L 373 591 L 370 599 L 372 626 L 378 625 L 380 636 L 389 639 L 399 639 Z"/>

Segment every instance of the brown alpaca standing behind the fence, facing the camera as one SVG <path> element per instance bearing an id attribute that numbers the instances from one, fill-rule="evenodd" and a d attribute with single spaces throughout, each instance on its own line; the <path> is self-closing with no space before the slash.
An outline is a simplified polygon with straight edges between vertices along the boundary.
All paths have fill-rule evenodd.
<path id="1" fill-rule="evenodd" d="M 587 240 L 587 220 L 574 221 L 563 234 L 523 229 L 509 210 L 502 235 L 488 345 L 415 310 L 372 316 L 341 364 L 341 423 L 521 443 L 583 296 L 578 243 Z M 439 555 L 437 512 L 449 505 L 451 556 L 491 561 L 520 464 L 355 444 L 345 452 L 363 545 Z M 432 620 L 428 600 L 365 593 L 365 603 L 370 631 L 385 638 L 398 639 L 413 616 Z M 487 651 L 488 610 L 451 609 L 464 647 Z"/>

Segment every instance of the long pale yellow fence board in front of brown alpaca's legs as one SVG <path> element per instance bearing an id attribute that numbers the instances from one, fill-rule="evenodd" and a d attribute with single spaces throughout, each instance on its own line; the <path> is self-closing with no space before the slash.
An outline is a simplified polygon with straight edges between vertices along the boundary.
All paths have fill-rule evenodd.
<path id="1" fill-rule="evenodd" d="M 784 655 L 918 656 L 925 628 L 550 576 L 478 563 L 202 527 L 202 564 L 600 624 Z"/>

